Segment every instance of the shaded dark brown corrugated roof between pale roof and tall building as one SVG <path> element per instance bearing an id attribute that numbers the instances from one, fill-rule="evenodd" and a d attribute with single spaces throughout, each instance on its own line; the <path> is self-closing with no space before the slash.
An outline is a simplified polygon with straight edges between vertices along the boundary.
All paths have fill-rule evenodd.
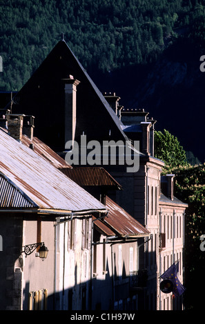
<path id="1" fill-rule="evenodd" d="M 104 168 L 79 167 L 59 170 L 81 186 L 114 186 L 115 189 L 121 189 L 121 185 Z"/>

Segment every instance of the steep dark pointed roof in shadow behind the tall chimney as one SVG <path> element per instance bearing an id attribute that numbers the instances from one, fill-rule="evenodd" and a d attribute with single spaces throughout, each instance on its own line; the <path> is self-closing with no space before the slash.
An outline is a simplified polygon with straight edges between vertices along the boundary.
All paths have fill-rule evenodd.
<path id="1" fill-rule="evenodd" d="M 65 41 L 59 41 L 48 57 L 14 96 L 12 113 L 35 116 L 35 134 L 55 152 L 64 150 L 64 82 L 71 74 L 77 86 L 77 128 L 79 143 L 84 132 L 87 141 L 127 139 L 115 112 L 88 76 Z M 110 134 L 110 137 L 109 137 Z M 59 146 L 59 143 L 61 145 Z"/>

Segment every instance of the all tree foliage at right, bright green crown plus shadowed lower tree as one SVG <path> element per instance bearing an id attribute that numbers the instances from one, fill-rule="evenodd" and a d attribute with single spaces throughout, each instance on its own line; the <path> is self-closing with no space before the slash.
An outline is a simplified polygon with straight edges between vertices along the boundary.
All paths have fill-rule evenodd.
<path id="1" fill-rule="evenodd" d="M 188 164 L 178 139 L 167 130 L 156 132 L 155 151 L 165 161 L 164 173 L 175 174 L 175 196 L 188 204 L 184 228 L 185 301 L 186 309 L 199 310 L 204 298 L 199 287 L 205 273 L 205 252 L 200 250 L 200 238 L 205 234 L 205 164 Z"/>

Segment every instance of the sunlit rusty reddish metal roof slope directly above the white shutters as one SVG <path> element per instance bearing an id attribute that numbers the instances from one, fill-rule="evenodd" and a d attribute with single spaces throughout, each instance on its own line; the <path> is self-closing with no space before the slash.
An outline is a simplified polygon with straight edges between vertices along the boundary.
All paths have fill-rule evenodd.
<path id="1" fill-rule="evenodd" d="M 128 212 L 121 208 L 112 199 L 106 196 L 106 207 L 108 216 L 104 223 L 117 232 L 120 236 L 148 236 L 150 232 L 133 218 Z"/>

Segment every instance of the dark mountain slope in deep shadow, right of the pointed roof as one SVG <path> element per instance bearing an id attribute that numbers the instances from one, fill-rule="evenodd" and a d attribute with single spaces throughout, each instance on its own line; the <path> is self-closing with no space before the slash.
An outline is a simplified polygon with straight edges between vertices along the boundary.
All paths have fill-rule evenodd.
<path id="1" fill-rule="evenodd" d="M 117 92 L 125 108 L 148 111 L 149 117 L 157 120 L 156 130 L 168 130 L 186 151 L 204 162 L 205 72 L 199 69 L 201 55 L 193 43 L 180 39 L 153 64 L 113 72 L 101 81 L 97 76 L 94 79 L 104 91 Z"/>

